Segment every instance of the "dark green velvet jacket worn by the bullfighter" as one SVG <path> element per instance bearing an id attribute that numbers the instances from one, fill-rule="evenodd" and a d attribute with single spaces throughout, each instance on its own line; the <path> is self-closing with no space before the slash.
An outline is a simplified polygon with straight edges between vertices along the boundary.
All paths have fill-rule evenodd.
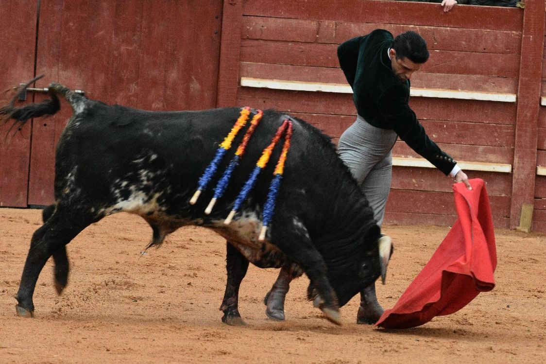
<path id="1" fill-rule="evenodd" d="M 430 140 L 408 105 L 410 81 L 401 81 L 391 68 L 388 49 L 393 40 L 393 34 L 378 29 L 337 48 L 357 112 L 375 127 L 394 130 L 410 148 L 447 175 L 456 162 Z"/>

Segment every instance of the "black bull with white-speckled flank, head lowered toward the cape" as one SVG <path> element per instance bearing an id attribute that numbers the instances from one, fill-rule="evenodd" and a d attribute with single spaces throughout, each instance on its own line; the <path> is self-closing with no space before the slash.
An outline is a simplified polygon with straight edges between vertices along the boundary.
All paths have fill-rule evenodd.
<path id="1" fill-rule="evenodd" d="M 274 216 L 260 241 L 262 209 L 282 143 L 233 221 L 225 225 L 224 219 L 287 115 L 265 111 L 224 196 L 207 215 L 210 187 L 197 203 L 188 201 L 240 108 L 152 112 L 106 105 L 59 84 L 51 84 L 49 93 L 51 99 L 39 104 L 17 108 L 12 101 L 0 109 L 0 116 L 15 119 L 15 124 L 55 114 L 60 108 L 57 95 L 73 109 L 57 146 L 55 204 L 45 210 L 44 225 L 32 236 L 15 296 L 20 316 L 34 314 L 35 285 L 49 257 L 54 258 L 55 286 L 61 293 L 68 281 L 66 244 L 88 225 L 117 212 L 138 214 L 151 225 L 149 246 L 161 244 L 167 234 L 186 225 L 210 228 L 227 239 L 228 278 L 221 310 L 228 324 L 243 323 L 238 292 L 249 261 L 263 268 L 289 268 L 294 275 L 305 272 L 310 279 L 308 299 L 338 324 L 339 307 L 380 275 L 384 278 L 390 245 L 380 249 L 383 239 L 366 198 L 330 139 L 306 122 L 290 118 L 292 147 Z M 235 138 L 219 172 L 245 130 Z"/>

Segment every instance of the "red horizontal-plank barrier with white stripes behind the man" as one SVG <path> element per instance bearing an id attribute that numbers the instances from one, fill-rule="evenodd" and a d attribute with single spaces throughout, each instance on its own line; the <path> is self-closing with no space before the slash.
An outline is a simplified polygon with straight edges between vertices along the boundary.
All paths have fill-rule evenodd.
<path id="1" fill-rule="evenodd" d="M 286 111 L 336 141 L 355 119 L 337 45 L 375 28 L 417 31 L 431 57 L 413 75 L 412 108 L 470 178 L 486 181 L 495 226 L 516 227 L 544 195 L 539 184 L 535 193 L 544 0 L 525 5 L 444 13 L 401 1 L 226 1 L 221 69 L 229 72 L 220 74 L 218 102 Z M 403 142 L 393 155 L 385 221 L 453 224 L 450 180 Z M 546 220 L 542 201 L 534 201 L 536 227 Z"/>

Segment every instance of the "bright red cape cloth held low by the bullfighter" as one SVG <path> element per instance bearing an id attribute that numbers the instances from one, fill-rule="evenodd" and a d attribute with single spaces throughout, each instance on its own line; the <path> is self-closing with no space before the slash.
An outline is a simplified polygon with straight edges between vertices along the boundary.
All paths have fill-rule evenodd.
<path id="1" fill-rule="evenodd" d="M 465 307 L 479 292 L 495 287 L 495 233 L 482 179 L 453 185 L 459 219 L 395 306 L 376 326 L 407 328 Z"/>

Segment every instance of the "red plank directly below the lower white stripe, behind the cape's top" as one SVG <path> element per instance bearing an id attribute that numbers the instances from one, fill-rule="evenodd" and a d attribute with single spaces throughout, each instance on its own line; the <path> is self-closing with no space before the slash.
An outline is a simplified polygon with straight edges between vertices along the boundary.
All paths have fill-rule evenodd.
<path id="1" fill-rule="evenodd" d="M 468 178 L 481 178 L 489 195 L 509 195 L 512 176 L 508 173 L 465 171 Z M 393 167 L 391 188 L 396 190 L 452 192 L 453 179 L 436 168 Z"/>

